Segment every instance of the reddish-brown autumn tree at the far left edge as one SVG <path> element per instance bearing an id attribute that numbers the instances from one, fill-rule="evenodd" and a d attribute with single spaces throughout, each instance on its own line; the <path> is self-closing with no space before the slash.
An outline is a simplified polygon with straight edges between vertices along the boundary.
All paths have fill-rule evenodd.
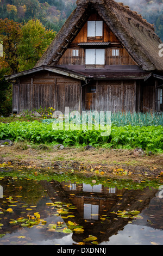
<path id="1" fill-rule="evenodd" d="M 3 58 L 0 60 L 0 65 L 1 62 L 7 62 L 12 73 L 18 71 L 17 45 L 22 38 L 21 27 L 20 23 L 13 20 L 0 19 L 0 37 L 3 42 Z"/>

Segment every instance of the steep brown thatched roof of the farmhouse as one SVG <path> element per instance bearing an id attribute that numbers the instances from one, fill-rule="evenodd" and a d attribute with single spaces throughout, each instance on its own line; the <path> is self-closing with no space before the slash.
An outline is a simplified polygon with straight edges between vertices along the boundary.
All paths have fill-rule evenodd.
<path id="1" fill-rule="evenodd" d="M 163 59 L 159 57 L 161 41 L 154 32 L 154 26 L 123 3 L 114 0 L 78 0 L 77 8 L 35 67 L 57 64 L 66 47 L 87 21 L 92 8 L 98 12 L 142 70 L 163 70 Z"/>

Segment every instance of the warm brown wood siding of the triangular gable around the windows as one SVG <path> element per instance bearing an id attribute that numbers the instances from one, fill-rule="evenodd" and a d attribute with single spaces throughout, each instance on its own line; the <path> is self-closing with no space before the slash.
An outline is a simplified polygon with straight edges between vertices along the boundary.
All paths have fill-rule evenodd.
<path id="1" fill-rule="evenodd" d="M 88 21 L 102 20 L 98 14 L 92 14 Z M 85 48 L 78 46 L 80 42 L 111 42 L 108 48 L 105 48 L 105 65 L 136 65 L 134 60 L 129 56 L 127 50 L 121 45 L 114 33 L 108 25 L 103 21 L 103 36 L 87 37 L 87 22 L 80 30 L 79 34 L 72 41 L 71 45 L 57 65 L 85 65 Z M 95 47 L 95 46 L 94 46 Z M 93 46 L 92 46 L 93 48 Z M 119 56 L 112 56 L 112 50 L 119 49 Z M 73 56 L 73 50 L 78 50 L 77 57 Z"/>

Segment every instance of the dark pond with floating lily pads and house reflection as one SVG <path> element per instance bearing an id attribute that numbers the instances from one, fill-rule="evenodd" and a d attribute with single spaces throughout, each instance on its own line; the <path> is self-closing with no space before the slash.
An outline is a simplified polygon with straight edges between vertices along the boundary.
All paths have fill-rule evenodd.
<path id="1" fill-rule="evenodd" d="M 0 245 L 163 245 L 158 180 L 0 171 Z"/>

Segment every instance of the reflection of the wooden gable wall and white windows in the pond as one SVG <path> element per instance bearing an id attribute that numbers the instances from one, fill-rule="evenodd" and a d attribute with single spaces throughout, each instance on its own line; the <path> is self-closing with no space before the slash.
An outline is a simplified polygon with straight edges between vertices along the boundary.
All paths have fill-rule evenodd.
<path id="1" fill-rule="evenodd" d="M 117 195 L 125 191 L 124 188 L 118 190 L 116 187 L 104 187 L 102 184 L 91 186 L 84 183 L 77 185 L 61 182 L 61 185 L 78 208 L 80 217 L 92 221 L 98 220 L 100 215 L 109 211 L 120 197 Z"/>

